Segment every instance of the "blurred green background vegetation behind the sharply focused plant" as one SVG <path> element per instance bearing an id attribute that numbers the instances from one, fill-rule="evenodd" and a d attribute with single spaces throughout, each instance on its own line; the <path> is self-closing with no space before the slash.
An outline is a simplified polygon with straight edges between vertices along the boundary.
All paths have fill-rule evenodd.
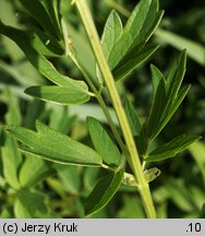
<path id="1" fill-rule="evenodd" d="M 79 14 L 70 1 L 61 1 L 61 13 L 67 19 L 73 44 L 86 69 L 93 73 L 95 67 L 93 55 L 87 44 L 86 34 L 80 24 Z M 136 1 L 101 0 L 88 1 L 99 34 L 112 8 L 119 11 L 123 21 L 134 8 Z M 158 217 L 204 217 L 205 211 L 205 2 L 195 0 L 192 3 L 177 0 L 160 1 L 165 16 L 152 40 L 160 45 L 158 50 L 141 66 L 130 78 L 119 81 L 118 87 L 123 97 L 131 98 L 141 116 L 146 117 L 152 102 L 152 81 L 149 64 L 154 63 L 165 72 L 173 61 L 179 49 L 188 49 L 188 64 L 184 84 L 192 87 L 160 134 L 158 142 L 165 143 L 179 133 L 202 135 L 189 151 L 170 161 L 161 162 L 158 168 L 161 175 L 150 185 L 157 206 Z M 3 23 L 24 27 L 33 19 L 25 13 L 17 0 L 0 0 L 0 19 Z M 81 79 L 81 73 L 69 59 L 51 59 L 63 74 Z M 46 80 L 26 60 L 24 54 L 10 39 L 0 37 L 0 123 L 22 125 L 34 129 L 39 119 L 50 127 L 69 133 L 75 140 L 91 143 L 85 125 L 87 115 L 106 122 L 100 107 L 92 101 L 89 104 L 61 107 L 51 103 L 33 99 L 24 90 L 35 84 L 45 84 Z M 95 168 L 52 165 L 22 160 L 16 152 L 16 142 L 3 139 L 0 145 L 0 217 L 83 217 L 83 201 L 96 184 L 101 173 Z M 5 141 L 5 142 L 4 142 Z M 14 189 L 17 182 L 11 179 L 4 166 L 5 156 L 10 155 L 24 176 L 22 181 L 27 186 L 17 197 Z M 38 166 L 37 166 L 38 165 Z M 156 165 L 155 165 L 156 166 Z M 36 167 L 36 169 L 35 169 Z M 13 172 L 15 172 L 13 169 Z M 22 174 L 24 173 L 24 175 Z M 41 172 L 38 182 L 29 182 L 29 176 Z M 38 173 L 39 174 L 39 173 Z M 25 177 L 27 176 L 27 178 Z M 23 178 L 23 177 L 22 177 Z M 36 201 L 36 199 L 38 201 Z M 34 201 L 36 205 L 33 204 Z M 22 203 L 24 202 L 24 203 Z M 140 198 L 132 188 L 121 187 L 106 209 L 93 217 L 144 217 Z"/>

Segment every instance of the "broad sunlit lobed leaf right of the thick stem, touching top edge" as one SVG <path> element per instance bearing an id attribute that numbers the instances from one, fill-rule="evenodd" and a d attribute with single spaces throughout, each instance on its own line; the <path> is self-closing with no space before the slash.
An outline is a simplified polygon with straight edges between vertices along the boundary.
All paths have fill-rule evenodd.
<path id="1" fill-rule="evenodd" d="M 162 11 L 158 10 L 157 0 L 141 0 L 129 17 L 123 33 L 119 26 L 121 25 L 119 16 L 116 16 L 113 21 L 113 15 L 116 13 L 110 14 L 106 24 L 102 44 L 105 47 L 109 44 L 109 36 L 117 38 L 114 44 L 110 45 L 109 50 L 105 49 L 105 55 L 114 79 L 119 80 L 128 75 L 156 50 L 156 47 L 144 46 L 159 24 Z M 107 37 L 106 34 L 108 34 Z"/>

